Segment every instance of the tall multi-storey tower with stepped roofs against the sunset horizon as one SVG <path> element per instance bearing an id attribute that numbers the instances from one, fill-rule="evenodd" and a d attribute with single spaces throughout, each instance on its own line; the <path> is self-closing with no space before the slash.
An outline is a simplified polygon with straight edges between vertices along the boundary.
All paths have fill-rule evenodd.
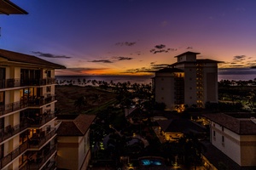
<path id="1" fill-rule="evenodd" d="M 196 59 L 200 53 L 177 55 L 177 62 L 155 71 L 155 101 L 166 110 L 183 111 L 185 105 L 204 108 L 206 102 L 218 102 L 218 61 Z"/>

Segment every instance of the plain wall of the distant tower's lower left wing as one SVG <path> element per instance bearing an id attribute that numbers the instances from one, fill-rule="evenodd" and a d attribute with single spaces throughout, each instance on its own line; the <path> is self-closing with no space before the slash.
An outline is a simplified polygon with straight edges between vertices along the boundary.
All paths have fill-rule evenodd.
<path id="1" fill-rule="evenodd" d="M 172 73 L 155 75 L 155 101 L 166 104 L 166 110 L 174 110 L 174 77 Z"/>

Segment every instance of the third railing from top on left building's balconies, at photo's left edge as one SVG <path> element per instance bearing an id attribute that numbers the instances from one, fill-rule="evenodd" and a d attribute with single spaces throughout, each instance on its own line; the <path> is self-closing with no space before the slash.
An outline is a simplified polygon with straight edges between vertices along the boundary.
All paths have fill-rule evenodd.
<path id="1" fill-rule="evenodd" d="M 5 127 L 5 129 L 0 129 L 0 143 L 6 139 L 11 138 L 15 134 L 20 133 L 27 127 L 28 127 L 27 124 L 24 123 L 24 124 L 15 125 L 14 127 L 11 127 L 9 125 L 9 126 Z"/>

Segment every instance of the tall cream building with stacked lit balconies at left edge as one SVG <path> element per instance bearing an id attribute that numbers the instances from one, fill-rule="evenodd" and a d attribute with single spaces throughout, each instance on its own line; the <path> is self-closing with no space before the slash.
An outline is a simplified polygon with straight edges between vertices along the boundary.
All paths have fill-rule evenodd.
<path id="1" fill-rule="evenodd" d="M 55 169 L 55 69 L 0 49 L 0 169 Z"/>

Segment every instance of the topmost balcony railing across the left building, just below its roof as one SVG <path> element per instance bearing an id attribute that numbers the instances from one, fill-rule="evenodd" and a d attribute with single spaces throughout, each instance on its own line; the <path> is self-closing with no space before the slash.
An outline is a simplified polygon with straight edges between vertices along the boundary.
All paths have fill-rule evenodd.
<path id="1" fill-rule="evenodd" d="M 0 88 L 17 88 L 24 86 L 44 86 L 48 84 L 54 84 L 55 78 L 43 78 L 43 79 L 19 79 L 9 78 L 0 80 Z"/>

